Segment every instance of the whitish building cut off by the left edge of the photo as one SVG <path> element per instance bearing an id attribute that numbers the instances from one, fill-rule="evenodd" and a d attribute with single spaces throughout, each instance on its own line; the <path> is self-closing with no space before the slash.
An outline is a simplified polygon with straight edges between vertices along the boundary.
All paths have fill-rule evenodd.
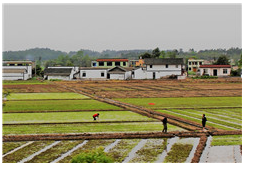
<path id="1" fill-rule="evenodd" d="M 27 80 L 32 78 L 32 61 L 3 61 L 2 80 Z"/>

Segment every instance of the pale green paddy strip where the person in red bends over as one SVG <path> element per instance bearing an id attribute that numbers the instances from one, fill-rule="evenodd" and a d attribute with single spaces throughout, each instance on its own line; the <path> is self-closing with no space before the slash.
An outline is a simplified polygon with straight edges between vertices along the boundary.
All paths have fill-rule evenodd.
<path id="1" fill-rule="evenodd" d="M 6 113 L 3 124 L 15 123 L 64 123 L 92 122 L 93 114 L 100 113 L 100 122 L 107 121 L 155 121 L 130 111 L 97 111 L 97 112 L 54 112 L 54 113 Z"/>

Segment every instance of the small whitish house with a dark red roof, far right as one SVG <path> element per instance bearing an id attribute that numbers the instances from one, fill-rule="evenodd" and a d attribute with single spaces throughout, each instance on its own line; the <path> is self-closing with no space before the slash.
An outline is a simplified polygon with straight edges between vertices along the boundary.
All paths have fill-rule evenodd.
<path id="1" fill-rule="evenodd" d="M 230 76 L 231 65 L 201 65 L 200 75 L 207 76 Z"/>

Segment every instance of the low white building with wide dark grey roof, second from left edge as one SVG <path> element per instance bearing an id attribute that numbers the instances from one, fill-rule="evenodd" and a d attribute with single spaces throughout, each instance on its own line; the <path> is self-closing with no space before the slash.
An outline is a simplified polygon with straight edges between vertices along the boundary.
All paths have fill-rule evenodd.
<path id="1" fill-rule="evenodd" d="M 73 80 L 78 73 L 78 67 L 48 67 L 44 70 L 44 79 Z"/>

